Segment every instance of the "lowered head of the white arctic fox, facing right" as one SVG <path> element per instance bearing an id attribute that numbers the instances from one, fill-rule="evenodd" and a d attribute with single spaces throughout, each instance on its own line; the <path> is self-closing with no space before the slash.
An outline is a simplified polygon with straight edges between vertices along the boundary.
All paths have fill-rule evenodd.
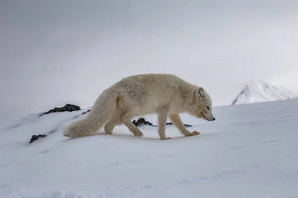
<path id="1" fill-rule="evenodd" d="M 190 113 L 197 118 L 202 118 L 207 121 L 215 120 L 212 113 L 212 100 L 202 87 L 195 91 L 194 99 L 190 107 Z"/>

